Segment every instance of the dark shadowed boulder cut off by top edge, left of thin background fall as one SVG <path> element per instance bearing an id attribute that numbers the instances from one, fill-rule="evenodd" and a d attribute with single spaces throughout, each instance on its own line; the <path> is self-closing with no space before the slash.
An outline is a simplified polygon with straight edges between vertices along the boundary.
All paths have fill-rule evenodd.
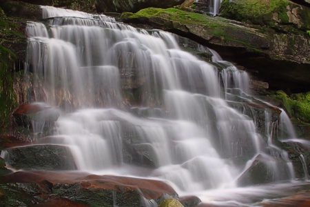
<path id="1" fill-rule="evenodd" d="M 137 12 L 143 8 L 169 8 L 183 3 L 184 0 L 96 0 L 97 12 Z"/>

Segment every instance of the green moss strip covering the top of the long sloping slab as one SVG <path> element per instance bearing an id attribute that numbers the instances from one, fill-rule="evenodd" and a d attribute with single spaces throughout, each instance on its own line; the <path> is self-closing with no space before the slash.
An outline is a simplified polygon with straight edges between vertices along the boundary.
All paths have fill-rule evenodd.
<path id="1" fill-rule="evenodd" d="M 232 44 L 238 45 L 240 48 L 247 48 L 250 52 L 264 53 L 260 48 L 260 41 L 269 41 L 266 39 L 267 36 L 261 33 L 260 30 L 249 30 L 248 28 L 237 26 L 223 17 L 209 17 L 205 14 L 186 12 L 176 8 L 146 8 L 135 14 L 123 12 L 121 15 L 123 20 L 142 20 L 143 18 L 161 18 L 163 21 L 159 22 L 163 22 L 163 25 L 173 24 L 174 28 L 178 29 L 178 26 L 180 26 L 180 30 L 183 28 L 191 30 L 191 32 L 196 32 L 195 34 L 199 37 L 206 39 L 215 37 L 227 41 L 227 43 L 232 42 Z"/>

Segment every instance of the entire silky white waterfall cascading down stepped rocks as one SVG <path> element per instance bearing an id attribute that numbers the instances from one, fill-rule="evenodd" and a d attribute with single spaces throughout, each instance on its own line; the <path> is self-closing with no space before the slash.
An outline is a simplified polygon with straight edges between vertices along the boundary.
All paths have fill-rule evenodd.
<path id="1" fill-rule="evenodd" d="M 300 139 L 275 107 L 249 96 L 246 72 L 213 50 L 214 64 L 197 59 L 167 32 L 42 9 L 47 26 L 26 28 L 31 99 L 61 116 L 54 135 L 34 143 L 68 146 L 76 170 L 165 180 L 214 205 L 251 206 L 298 183 L 273 141 L 279 125 L 291 128 L 286 141 Z"/>

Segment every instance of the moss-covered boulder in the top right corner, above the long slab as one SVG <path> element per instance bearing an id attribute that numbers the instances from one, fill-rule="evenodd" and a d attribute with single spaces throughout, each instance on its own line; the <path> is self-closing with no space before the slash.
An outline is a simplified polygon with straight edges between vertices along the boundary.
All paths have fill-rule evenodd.
<path id="1" fill-rule="evenodd" d="M 287 0 L 224 0 L 220 15 L 259 25 L 292 24 L 310 28 L 310 8 Z"/>

